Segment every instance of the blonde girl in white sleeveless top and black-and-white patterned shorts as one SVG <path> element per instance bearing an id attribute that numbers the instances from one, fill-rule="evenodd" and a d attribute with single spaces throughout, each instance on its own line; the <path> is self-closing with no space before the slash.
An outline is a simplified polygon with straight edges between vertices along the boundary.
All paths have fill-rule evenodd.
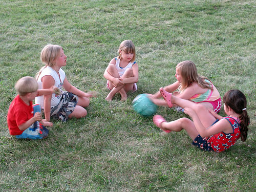
<path id="1" fill-rule="evenodd" d="M 41 61 L 45 66 L 36 74 L 39 89 L 57 87 L 59 94 L 39 96 L 35 103 L 44 109 L 46 121 L 51 117 L 66 122 L 69 118 L 81 118 L 87 115 L 90 97 L 95 97 L 95 92 L 85 93 L 72 86 L 62 67 L 67 65 L 67 56 L 61 46 L 47 45 L 41 51 Z M 66 91 L 62 91 L 64 88 Z"/>

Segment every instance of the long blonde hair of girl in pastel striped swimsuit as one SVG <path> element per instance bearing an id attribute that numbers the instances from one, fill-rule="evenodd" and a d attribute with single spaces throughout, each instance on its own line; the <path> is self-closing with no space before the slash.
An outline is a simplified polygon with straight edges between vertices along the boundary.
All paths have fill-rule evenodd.
<path id="1" fill-rule="evenodd" d="M 197 68 L 194 62 L 190 60 L 182 61 L 178 63 L 176 69 L 178 70 L 182 77 L 182 82 L 180 84 L 179 91 L 184 91 L 193 82 L 197 82 L 201 88 L 208 88 L 213 90 L 211 86 L 211 81 L 206 77 L 198 75 Z M 210 83 L 206 82 L 205 79 L 210 81 Z"/>

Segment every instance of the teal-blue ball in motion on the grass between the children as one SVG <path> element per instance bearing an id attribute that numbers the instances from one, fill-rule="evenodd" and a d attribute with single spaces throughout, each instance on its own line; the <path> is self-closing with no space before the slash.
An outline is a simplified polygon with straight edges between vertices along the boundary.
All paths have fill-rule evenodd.
<path id="1" fill-rule="evenodd" d="M 157 112 L 157 105 L 146 94 L 137 95 L 132 104 L 134 111 L 146 117 L 153 116 Z"/>

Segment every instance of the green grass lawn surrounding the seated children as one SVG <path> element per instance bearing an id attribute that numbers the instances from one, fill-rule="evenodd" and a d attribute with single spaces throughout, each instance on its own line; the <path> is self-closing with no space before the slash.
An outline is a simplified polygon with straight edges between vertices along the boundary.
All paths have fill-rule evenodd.
<path id="1" fill-rule="evenodd" d="M 256 1 L 0 0 L 0 18 L 0 191 L 255 190 Z M 137 49 L 138 91 L 106 102 L 103 72 L 124 39 Z M 49 43 L 64 48 L 69 81 L 99 96 L 86 118 L 53 121 L 47 139 L 16 140 L 6 123 L 14 84 L 35 76 Z M 136 95 L 174 82 L 175 66 L 187 59 L 222 97 L 245 93 L 246 142 L 202 152 L 185 132 L 164 134 L 132 110 Z"/>

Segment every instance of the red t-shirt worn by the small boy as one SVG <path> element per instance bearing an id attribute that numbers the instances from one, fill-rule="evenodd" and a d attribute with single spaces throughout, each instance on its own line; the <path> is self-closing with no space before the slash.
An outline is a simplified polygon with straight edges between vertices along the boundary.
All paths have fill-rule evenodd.
<path id="1" fill-rule="evenodd" d="M 11 135 L 20 135 L 24 131 L 20 131 L 18 125 L 21 125 L 33 117 L 33 103 L 27 105 L 19 95 L 11 102 L 7 114 L 7 124 Z"/>

